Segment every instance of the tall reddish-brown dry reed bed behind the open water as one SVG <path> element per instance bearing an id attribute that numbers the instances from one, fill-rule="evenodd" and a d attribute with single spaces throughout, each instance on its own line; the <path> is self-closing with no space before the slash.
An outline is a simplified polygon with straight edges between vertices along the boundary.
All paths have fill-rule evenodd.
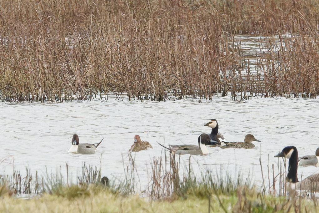
<path id="1" fill-rule="evenodd" d="M 318 1 L 0 1 L 2 101 L 319 94 Z M 279 35 L 259 75 L 233 35 Z M 291 33 L 290 39 L 281 34 Z M 103 97 L 102 97 L 103 95 Z M 117 96 L 120 98 L 120 96 Z"/>

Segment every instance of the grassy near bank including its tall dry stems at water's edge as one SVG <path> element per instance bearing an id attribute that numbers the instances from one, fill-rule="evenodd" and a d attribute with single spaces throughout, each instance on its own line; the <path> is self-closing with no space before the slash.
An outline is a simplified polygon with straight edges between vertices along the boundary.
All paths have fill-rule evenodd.
<path id="1" fill-rule="evenodd" d="M 130 156 L 131 157 L 131 156 Z M 299 196 L 277 196 L 265 189 L 258 190 L 241 175 L 237 179 L 230 175 L 219 175 L 212 179 L 211 171 L 196 177 L 189 168 L 180 174 L 180 165 L 175 155 L 168 161 L 153 159 L 150 186 L 143 193 L 145 198 L 136 194 L 134 184 L 134 159 L 127 167 L 125 179 L 120 183 L 110 182 L 109 186 L 100 184 L 100 170 L 83 166 L 83 173 L 77 184 L 63 182 L 63 177 L 48 175 L 46 180 L 38 176 L 32 180 L 27 169 L 26 178 L 15 173 L 12 178 L 0 176 L 0 213 L 1 212 L 317 212 L 316 198 Z M 66 165 L 68 167 L 68 165 Z M 91 175 L 93 174 L 93 175 Z M 285 176 L 278 174 L 277 176 Z M 274 176 L 274 175 L 273 175 Z M 276 177 L 277 177 L 276 176 Z M 102 178 L 103 179 L 103 178 Z M 274 180 L 273 184 L 282 179 Z M 281 188 L 281 187 L 280 187 Z M 24 194 L 35 197 L 23 199 Z"/>

